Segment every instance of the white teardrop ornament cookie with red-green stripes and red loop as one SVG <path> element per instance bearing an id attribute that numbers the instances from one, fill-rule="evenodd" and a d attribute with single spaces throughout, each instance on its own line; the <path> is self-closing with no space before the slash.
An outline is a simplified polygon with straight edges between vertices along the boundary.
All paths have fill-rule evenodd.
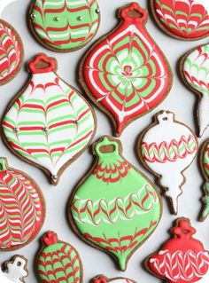
<path id="1" fill-rule="evenodd" d="M 4 140 L 57 185 L 94 137 L 96 116 L 81 94 L 55 73 L 56 59 L 38 54 L 28 68 L 32 76 L 4 116 Z"/>

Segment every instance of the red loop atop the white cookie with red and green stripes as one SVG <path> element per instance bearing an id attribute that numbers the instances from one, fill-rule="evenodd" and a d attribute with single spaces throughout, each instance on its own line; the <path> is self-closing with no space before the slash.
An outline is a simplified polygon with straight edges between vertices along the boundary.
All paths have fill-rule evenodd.
<path id="1" fill-rule="evenodd" d="M 35 59 L 29 62 L 28 68 L 32 74 L 55 72 L 57 70 L 57 61 L 40 53 L 35 56 Z"/>

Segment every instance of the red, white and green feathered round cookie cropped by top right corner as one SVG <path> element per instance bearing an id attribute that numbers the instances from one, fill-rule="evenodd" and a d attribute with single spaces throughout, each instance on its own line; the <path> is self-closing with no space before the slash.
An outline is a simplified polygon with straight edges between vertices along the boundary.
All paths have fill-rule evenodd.
<path id="1" fill-rule="evenodd" d="M 151 0 L 154 19 L 167 35 L 197 40 L 209 35 L 207 0 Z"/>

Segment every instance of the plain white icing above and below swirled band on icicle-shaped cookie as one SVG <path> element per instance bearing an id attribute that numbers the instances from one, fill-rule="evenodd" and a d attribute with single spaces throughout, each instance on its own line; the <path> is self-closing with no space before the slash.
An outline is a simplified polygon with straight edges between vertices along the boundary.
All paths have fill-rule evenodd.
<path id="1" fill-rule="evenodd" d="M 164 118 L 167 120 L 164 121 Z M 186 138 L 190 135 L 193 136 L 193 133 L 189 128 L 174 122 L 174 114 L 167 114 L 164 112 L 163 114 L 158 115 L 158 119 L 159 123 L 154 127 L 151 127 L 151 129 L 145 133 L 142 142 L 145 142 L 148 145 L 151 145 L 152 143 L 160 145 L 165 141 L 166 144 L 169 145 L 173 139 L 178 142 L 181 140 L 182 136 L 185 136 Z M 176 161 L 166 161 L 164 163 L 144 160 L 148 167 L 160 176 L 160 185 L 167 189 L 166 196 L 172 200 L 175 213 L 177 213 L 178 197 L 182 193 L 182 190 L 180 189 L 184 180 L 182 171 L 190 166 L 190 163 L 193 161 L 196 154 L 197 150 L 194 153 L 188 154 L 184 159 L 178 158 Z"/>

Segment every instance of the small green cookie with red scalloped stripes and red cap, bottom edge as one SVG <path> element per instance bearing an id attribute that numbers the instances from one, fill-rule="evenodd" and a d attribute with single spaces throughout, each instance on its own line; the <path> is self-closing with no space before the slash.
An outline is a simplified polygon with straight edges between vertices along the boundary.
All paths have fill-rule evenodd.
<path id="1" fill-rule="evenodd" d="M 37 272 L 43 283 L 82 283 L 82 263 L 73 246 L 58 240 L 55 232 L 43 235 L 37 258 Z"/>

